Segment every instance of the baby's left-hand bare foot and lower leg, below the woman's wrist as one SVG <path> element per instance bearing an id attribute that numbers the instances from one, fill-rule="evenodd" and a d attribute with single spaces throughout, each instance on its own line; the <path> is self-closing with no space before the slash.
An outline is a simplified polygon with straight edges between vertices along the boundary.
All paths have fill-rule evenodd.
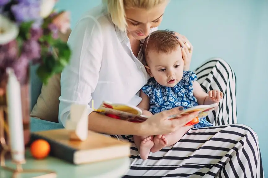
<path id="1" fill-rule="evenodd" d="M 137 136 L 133 135 L 134 143 L 136 144 L 138 151 L 140 153 L 140 158 L 145 160 L 148 158 L 151 148 L 153 147 L 153 137 L 152 136 Z"/>

